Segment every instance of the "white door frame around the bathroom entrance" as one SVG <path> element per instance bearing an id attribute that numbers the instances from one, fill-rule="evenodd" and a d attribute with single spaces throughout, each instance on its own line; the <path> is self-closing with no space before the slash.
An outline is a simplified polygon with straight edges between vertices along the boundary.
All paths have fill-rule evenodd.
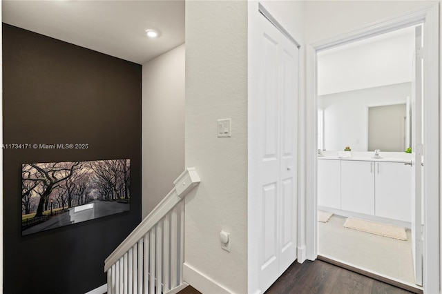
<path id="1" fill-rule="evenodd" d="M 407 26 L 412 26 L 425 21 L 424 34 L 424 126 L 425 158 L 431 160 L 425 161 L 423 170 L 425 173 L 425 195 L 423 203 L 424 209 L 424 229 L 423 237 L 425 239 L 423 255 L 423 288 L 426 293 L 439 293 L 440 287 L 440 190 L 439 190 L 439 130 L 441 122 L 439 121 L 439 3 L 413 10 L 407 14 L 390 19 L 384 19 L 376 23 L 371 23 L 363 28 L 352 30 L 343 35 L 325 39 L 318 43 L 307 45 L 307 83 L 306 83 L 306 134 L 316 133 L 316 99 L 317 99 L 317 75 L 316 75 L 316 53 L 320 50 L 333 48 L 344 43 L 350 43 L 374 35 L 380 35 L 385 32 L 398 30 Z M 305 237 L 307 248 L 307 259 L 314 260 L 318 256 L 318 224 L 317 224 L 317 193 L 316 193 L 316 136 L 306 136 L 306 217 L 305 217 Z M 302 224 L 301 224 L 302 226 Z"/>

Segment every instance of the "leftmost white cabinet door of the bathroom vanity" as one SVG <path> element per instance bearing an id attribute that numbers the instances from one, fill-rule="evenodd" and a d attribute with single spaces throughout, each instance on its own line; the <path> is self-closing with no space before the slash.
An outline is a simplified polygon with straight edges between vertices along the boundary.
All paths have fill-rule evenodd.
<path id="1" fill-rule="evenodd" d="M 318 159 L 318 206 L 340 209 L 340 160 Z"/>

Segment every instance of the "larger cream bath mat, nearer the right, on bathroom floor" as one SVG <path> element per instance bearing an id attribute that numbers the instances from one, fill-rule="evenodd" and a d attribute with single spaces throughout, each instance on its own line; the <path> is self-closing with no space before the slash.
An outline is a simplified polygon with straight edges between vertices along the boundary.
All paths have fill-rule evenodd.
<path id="1" fill-rule="evenodd" d="M 380 235 L 384 237 L 390 237 L 398 240 L 407 240 L 407 233 L 405 228 L 400 226 L 394 226 L 392 224 L 383 224 L 381 222 L 372 222 L 365 219 L 355 219 L 348 217 L 345 220 L 345 228 L 353 228 L 354 230 L 372 233 L 374 235 Z"/>

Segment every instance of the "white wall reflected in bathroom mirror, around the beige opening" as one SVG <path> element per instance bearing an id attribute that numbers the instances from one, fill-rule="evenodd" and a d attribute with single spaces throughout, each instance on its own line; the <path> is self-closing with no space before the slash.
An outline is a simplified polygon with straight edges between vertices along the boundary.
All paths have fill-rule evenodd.
<path id="1" fill-rule="evenodd" d="M 324 110 L 326 150 L 367 151 L 368 106 L 403 104 L 412 92 L 411 83 L 340 92 L 318 97 Z"/>

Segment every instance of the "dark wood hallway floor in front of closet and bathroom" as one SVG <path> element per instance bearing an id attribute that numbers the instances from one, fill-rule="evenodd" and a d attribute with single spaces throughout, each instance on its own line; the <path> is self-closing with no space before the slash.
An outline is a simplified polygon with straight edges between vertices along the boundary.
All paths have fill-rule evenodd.
<path id="1" fill-rule="evenodd" d="M 200 294 L 191 286 L 181 294 Z M 321 260 L 294 262 L 267 294 L 406 294 L 412 293 Z M 211 294 L 211 293 L 204 293 Z"/>

